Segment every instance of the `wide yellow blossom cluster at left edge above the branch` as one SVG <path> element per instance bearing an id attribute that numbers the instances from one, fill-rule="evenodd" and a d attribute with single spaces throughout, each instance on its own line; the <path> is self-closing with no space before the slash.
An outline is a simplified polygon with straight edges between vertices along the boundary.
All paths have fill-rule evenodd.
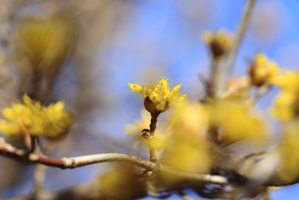
<path id="1" fill-rule="evenodd" d="M 31 100 L 26 94 L 23 103 L 13 103 L 2 109 L 0 131 L 4 136 L 48 136 L 55 137 L 66 132 L 72 117 L 64 109 L 64 102 L 51 103 L 48 107 Z"/>

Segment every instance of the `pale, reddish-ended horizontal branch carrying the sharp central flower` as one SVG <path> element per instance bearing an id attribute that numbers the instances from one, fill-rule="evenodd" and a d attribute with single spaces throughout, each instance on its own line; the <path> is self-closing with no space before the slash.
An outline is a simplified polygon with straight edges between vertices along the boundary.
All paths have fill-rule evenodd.
<path id="1" fill-rule="evenodd" d="M 148 160 L 144 160 L 126 154 L 117 154 L 117 153 L 94 154 L 94 155 L 80 156 L 80 157 L 69 157 L 69 158 L 63 157 L 61 159 L 48 158 L 33 153 L 26 154 L 24 150 L 16 149 L 12 147 L 10 144 L 7 144 L 4 138 L 1 137 L 0 137 L 0 155 L 13 158 L 14 160 L 19 160 L 28 164 L 39 163 L 51 167 L 60 167 L 61 169 L 67 169 L 67 168 L 73 169 L 76 167 L 87 166 L 95 163 L 122 162 L 122 163 L 135 165 L 138 167 L 142 167 L 152 172 L 155 171 L 164 172 L 171 176 L 176 176 L 186 181 L 194 181 L 194 182 L 200 181 L 205 183 L 213 183 L 213 184 L 221 184 L 221 185 L 228 184 L 227 178 L 223 176 L 209 175 L 209 174 L 198 175 L 198 174 L 180 172 L 168 166 L 162 165 L 160 163 L 155 164 Z"/>

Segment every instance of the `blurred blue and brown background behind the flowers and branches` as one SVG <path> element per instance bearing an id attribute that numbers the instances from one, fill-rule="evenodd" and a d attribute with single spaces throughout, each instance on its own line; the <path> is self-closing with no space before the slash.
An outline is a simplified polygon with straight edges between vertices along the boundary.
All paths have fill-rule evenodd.
<path id="1" fill-rule="evenodd" d="M 201 43 L 200 35 L 206 29 L 222 28 L 233 33 L 244 4 L 244 0 L 2 0 L 0 105 L 10 106 L 24 91 L 30 94 L 37 87 L 31 84 L 34 77 L 26 73 L 26 63 L 22 61 L 22 56 L 28 55 L 25 51 L 16 53 L 18 43 L 24 41 L 20 38 L 26 37 L 20 35 L 20 30 L 39 23 L 32 19 L 58 19 L 61 25 L 54 27 L 61 29 L 64 36 L 57 42 L 61 44 L 57 54 L 65 55 L 45 61 L 49 68 L 60 67 L 51 72 L 54 75 L 49 75 L 46 83 L 39 84 L 40 94 L 31 96 L 46 96 L 45 103 L 64 100 L 75 121 L 68 137 L 57 142 L 48 156 L 111 152 L 147 159 L 147 151 L 138 151 L 130 145 L 131 137 L 123 133 L 123 126 L 141 118 L 140 110 L 144 109 L 141 95 L 132 93 L 128 83 L 149 85 L 150 81 L 167 76 L 170 87 L 182 83 L 181 94 L 187 93 L 190 99 L 198 100 L 204 95 L 199 75 L 208 75 L 211 64 L 208 48 Z M 298 21 L 297 0 L 257 0 L 234 63 L 233 76 L 245 74 L 248 62 L 257 52 L 264 52 L 281 68 L 298 69 Z M 51 76 L 56 74 L 55 82 L 51 83 Z M 53 92 L 48 94 L 43 84 L 48 84 Z M 265 95 L 257 107 L 267 111 L 277 91 Z M 0 163 L 0 197 L 33 190 L 34 166 L 2 157 Z M 82 184 L 106 173 L 113 165 L 100 163 L 66 170 L 47 168 L 44 186 L 48 190 L 61 190 Z M 295 184 L 275 190 L 272 197 L 298 199 L 298 187 Z M 186 193 L 201 199 L 192 190 Z M 172 195 L 168 199 L 181 197 Z"/>

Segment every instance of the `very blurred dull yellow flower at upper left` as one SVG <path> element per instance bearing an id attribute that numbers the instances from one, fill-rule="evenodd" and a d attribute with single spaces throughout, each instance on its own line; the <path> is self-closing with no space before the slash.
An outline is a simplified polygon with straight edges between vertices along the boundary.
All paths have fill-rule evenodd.
<path id="1" fill-rule="evenodd" d="M 73 38 L 73 24 L 61 14 L 46 19 L 22 20 L 17 28 L 16 43 L 19 55 L 33 70 L 55 73 L 73 46 Z"/>

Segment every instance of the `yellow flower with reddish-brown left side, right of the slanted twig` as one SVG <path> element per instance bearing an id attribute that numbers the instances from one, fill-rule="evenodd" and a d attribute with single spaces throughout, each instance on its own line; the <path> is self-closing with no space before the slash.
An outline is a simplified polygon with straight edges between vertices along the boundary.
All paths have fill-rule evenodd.
<path id="1" fill-rule="evenodd" d="M 249 68 L 252 85 L 263 85 L 266 82 L 274 83 L 279 75 L 279 68 L 276 62 L 271 62 L 263 53 L 258 53 Z"/>

